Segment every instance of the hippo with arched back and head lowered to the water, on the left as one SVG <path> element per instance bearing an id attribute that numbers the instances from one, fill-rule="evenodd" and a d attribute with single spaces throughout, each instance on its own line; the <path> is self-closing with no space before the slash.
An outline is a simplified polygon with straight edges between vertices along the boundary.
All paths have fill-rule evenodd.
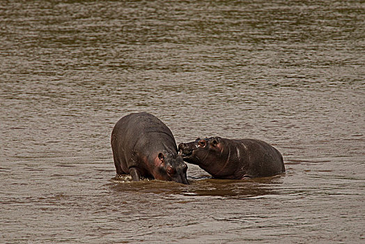
<path id="1" fill-rule="evenodd" d="M 171 130 L 152 114 L 122 117 L 111 132 L 111 149 L 116 174 L 130 174 L 133 181 L 144 177 L 189 184 Z"/>

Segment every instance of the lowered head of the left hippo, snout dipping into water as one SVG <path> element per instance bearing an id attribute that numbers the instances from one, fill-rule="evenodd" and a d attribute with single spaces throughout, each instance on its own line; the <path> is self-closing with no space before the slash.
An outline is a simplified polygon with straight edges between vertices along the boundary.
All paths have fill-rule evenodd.
<path id="1" fill-rule="evenodd" d="M 162 181 L 175 181 L 178 183 L 189 184 L 187 181 L 187 165 L 183 157 L 177 153 L 158 153 L 158 167 L 155 178 Z"/>

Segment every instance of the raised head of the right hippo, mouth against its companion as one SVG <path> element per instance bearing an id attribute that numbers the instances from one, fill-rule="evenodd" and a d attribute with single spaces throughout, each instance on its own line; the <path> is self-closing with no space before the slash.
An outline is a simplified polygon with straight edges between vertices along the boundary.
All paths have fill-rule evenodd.
<path id="1" fill-rule="evenodd" d="M 222 162 L 219 160 L 223 150 L 221 137 L 198 138 L 195 142 L 180 143 L 178 149 L 185 162 L 199 165 L 213 176 L 222 169 Z"/>

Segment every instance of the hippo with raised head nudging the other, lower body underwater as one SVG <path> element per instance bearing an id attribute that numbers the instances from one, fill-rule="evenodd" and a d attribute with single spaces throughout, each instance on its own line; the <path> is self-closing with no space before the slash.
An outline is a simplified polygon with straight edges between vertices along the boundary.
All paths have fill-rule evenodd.
<path id="1" fill-rule="evenodd" d="M 185 162 L 199 165 L 215 178 L 254 178 L 285 171 L 281 153 L 257 139 L 198 138 L 178 148 Z"/>

